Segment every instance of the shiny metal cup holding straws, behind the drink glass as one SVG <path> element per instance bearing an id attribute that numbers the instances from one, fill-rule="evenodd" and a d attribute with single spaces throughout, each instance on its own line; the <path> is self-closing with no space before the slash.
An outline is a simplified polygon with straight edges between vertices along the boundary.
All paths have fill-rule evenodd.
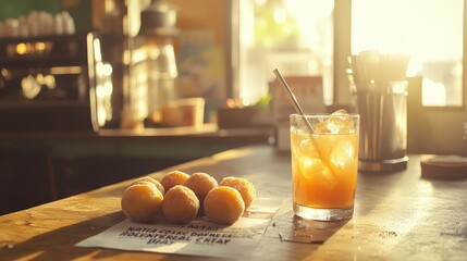
<path id="1" fill-rule="evenodd" d="M 407 82 L 388 82 L 355 92 L 361 116 L 358 170 L 407 167 Z"/>

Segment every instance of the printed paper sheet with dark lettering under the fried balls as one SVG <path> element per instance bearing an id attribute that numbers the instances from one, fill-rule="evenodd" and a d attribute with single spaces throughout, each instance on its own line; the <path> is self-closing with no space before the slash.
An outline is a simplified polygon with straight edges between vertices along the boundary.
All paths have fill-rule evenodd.
<path id="1" fill-rule="evenodd" d="M 124 220 L 76 246 L 202 257 L 248 257 L 281 204 L 276 199 L 256 199 L 231 226 L 217 225 L 201 216 L 184 225 L 167 223 L 163 217 L 153 224 Z"/>

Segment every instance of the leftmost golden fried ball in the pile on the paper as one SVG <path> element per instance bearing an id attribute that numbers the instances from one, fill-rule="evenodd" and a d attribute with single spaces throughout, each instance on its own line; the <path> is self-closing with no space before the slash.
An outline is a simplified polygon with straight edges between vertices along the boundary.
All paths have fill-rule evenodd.
<path id="1" fill-rule="evenodd" d="M 121 207 L 126 217 L 137 223 L 151 222 L 162 206 L 163 196 L 152 183 L 134 184 L 122 195 Z"/>

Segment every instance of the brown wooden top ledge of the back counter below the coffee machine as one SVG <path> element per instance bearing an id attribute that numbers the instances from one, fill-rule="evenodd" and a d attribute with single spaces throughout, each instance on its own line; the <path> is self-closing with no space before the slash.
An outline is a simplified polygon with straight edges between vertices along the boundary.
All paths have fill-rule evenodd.
<path id="1" fill-rule="evenodd" d="M 98 132 L 0 130 L 0 152 L 21 149 L 48 150 L 60 158 L 122 154 L 195 159 L 239 146 L 268 142 L 273 135 L 270 126 L 222 129 L 217 124 Z"/>

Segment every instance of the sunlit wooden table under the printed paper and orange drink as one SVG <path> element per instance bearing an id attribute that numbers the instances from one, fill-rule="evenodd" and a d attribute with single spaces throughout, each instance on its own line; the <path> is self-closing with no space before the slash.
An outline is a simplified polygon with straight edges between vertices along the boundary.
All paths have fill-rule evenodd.
<path id="1" fill-rule="evenodd" d="M 419 157 L 409 158 L 404 172 L 359 174 L 355 216 L 347 222 L 322 223 L 332 228 L 322 244 L 283 241 L 279 236 L 276 221 L 293 220 L 290 154 L 270 146 L 254 146 L 174 169 L 202 171 L 218 179 L 245 176 L 255 183 L 258 197 L 288 200 L 251 260 L 465 260 L 467 181 L 423 179 Z M 160 177 L 167 171 L 151 175 Z M 128 183 L 0 216 L 0 260 L 204 260 L 74 247 L 124 220 L 120 197 Z"/>

